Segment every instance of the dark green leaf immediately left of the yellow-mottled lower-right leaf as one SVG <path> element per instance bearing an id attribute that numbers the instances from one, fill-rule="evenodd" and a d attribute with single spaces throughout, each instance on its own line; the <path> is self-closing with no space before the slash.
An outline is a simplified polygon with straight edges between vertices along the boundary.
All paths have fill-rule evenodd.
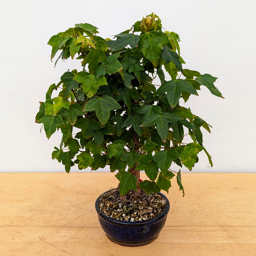
<path id="1" fill-rule="evenodd" d="M 175 149 L 157 151 L 153 160 L 157 162 L 162 174 L 165 174 L 170 168 L 172 161 L 179 158 L 180 154 Z"/>

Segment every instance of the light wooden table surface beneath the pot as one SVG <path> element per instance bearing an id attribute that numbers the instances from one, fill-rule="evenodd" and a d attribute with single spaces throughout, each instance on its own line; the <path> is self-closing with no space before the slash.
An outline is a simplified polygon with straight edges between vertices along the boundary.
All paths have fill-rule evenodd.
<path id="1" fill-rule="evenodd" d="M 143 174 L 142 174 L 143 176 Z M 255 256 L 256 173 L 183 173 L 151 244 L 107 239 L 94 202 L 114 173 L 0 173 L 0 255 Z M 166 193 L 165 193 L 166 194 Z"/>

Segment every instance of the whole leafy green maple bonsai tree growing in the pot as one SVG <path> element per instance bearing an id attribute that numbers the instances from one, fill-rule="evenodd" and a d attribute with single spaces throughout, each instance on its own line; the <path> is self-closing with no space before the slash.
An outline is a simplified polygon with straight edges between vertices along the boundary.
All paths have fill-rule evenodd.
<path id="1" fill-rule="evenodd" d="M 48 42 L 51 60 L 61 51 L 55 65 L 70 57 L 82 64 L 80 70 L 66 71 L 40 102 L 36 122 L 44 125 L 47 138 L 56 130 L 62 133 L 52 159 L 66 172 L 74 165 L 80 170 L 109 165 L 111 172 L 118 170 L 121 196 L 130 190 L 168 192 L 176 175 L 184 196 L 178 169 L 191 170 L 200 151 L 212 165 L 201 132 L 211 126 L 181 104 L 191 94 L 198 96 L 201 86 L 222 97 L 214 86 L 217 78 L 183 69 L 178 34 L 164 31 L 154 13 L 115 40 L 97 33 L 91 24 L 76 24 Z M 52 97 L 55 90 L 58 96 Z M 190 143 L 183 143 L 185 136 Z M 140 171 L 147 180 L 140 180 Z"/>

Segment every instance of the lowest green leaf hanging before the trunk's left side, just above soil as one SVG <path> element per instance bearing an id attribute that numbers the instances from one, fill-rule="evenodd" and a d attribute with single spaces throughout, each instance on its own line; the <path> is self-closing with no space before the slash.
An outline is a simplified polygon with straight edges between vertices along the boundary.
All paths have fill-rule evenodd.
<path id="1" fill-rule="evenodd" d="M 115 177 L 120 181 L 120 195 L 125 195 L 129 190 L 137 190 L 137 179 L 131 173 L 120 171 Z"/>

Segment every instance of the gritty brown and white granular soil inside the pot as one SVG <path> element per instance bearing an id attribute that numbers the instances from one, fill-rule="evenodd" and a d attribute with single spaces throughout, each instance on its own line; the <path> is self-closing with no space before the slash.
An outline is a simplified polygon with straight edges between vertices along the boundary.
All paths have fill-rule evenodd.
<path id="1" fill-rule="evenodd" d="M 121 201 L 119 191 L 114 188 L 100 198 L 100 211 L 112 219 L 134 222 L 152 219 L 165 209 L 166 199 L 159 194 L 146 194 L 141 190 L 136 200 L 132 195 L 130 191 L 126 200 Z"/>

